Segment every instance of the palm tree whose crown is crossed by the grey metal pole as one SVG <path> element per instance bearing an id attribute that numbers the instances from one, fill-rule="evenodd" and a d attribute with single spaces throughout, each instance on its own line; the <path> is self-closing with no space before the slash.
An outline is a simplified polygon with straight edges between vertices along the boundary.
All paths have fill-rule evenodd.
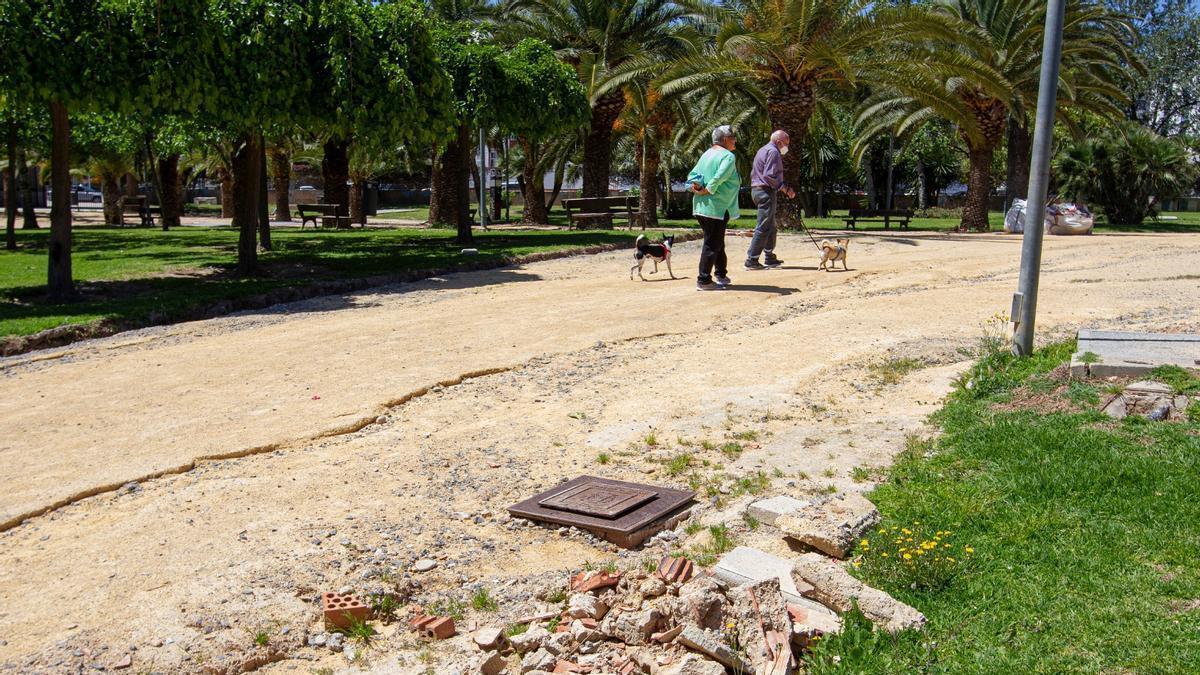
<path id="1" fill-rule="evenodd" d="M 898 46 L 893 77 L 868 97 L 859 148 L 878 133 L 940 117 L 958 127 L 968 156 L 964 229 L 986 231 L 991 162 L 1010 114 L 1037 100 L 1046 5 L 1043 0 L 942 0 L 934 11 L 958 24 L 955 40 Z M 1127 64 L 1136 61 L 1133 26 L 1085 0 L 1068 0 L 1063 28 L 1060 119 L 1064 109 L 1120 118 Z"/>

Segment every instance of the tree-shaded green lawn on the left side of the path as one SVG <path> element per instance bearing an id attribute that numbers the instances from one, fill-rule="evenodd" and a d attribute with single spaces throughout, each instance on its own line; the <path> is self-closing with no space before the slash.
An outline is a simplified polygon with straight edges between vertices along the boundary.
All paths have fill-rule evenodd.
<path id="1" fill-rule="evenodd" d="M 479 256 L 466 258 L 445 229 L 275 229 L 262 253 L 264 275 L 238 279 L 238 233 L 229 227 L 170 232 L 108 227 L 74 231 L 72 265 L 82 299 L 44 299 L 48 229 L 17 231 L 19 250 L 0 251 L 0 336 L 29 335 L 66 323 L 101 319 L 121 325 L 187 317 L 211 303 L 316 280 L 355 279 L 464 261 L 499 261 L 628 240 L 628 232 L 478 232 Z"/>

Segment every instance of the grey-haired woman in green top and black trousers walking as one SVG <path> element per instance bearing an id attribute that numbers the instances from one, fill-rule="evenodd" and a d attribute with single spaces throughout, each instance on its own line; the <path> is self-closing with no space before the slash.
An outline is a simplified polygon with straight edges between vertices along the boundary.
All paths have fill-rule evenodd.
<path id="1" fill-rule="evenodd" d="M 713 130 L 713 147 L 700 156 L 700 161 L 688 174 L 691 184 L 691 214 L 704 231 L 704 245 L 700 250 L 700 276 L 696 288 L 716 291 L 730 283 L 728 259 L 725 256 L 725 228 L 730 219 L 738 217 L 738 175 L 733 148 L 737 137 L 728 125 Z M 713 269 L 716 279 L 713 279 Z"/>

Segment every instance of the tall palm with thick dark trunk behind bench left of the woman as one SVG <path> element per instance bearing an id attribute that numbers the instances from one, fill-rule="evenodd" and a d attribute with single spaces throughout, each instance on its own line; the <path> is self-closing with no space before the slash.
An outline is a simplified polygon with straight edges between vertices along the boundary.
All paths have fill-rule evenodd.
<path id="1" fill-rule="evenodd" d="M 499 30 L 535 37 L 580 74 L 592 104 L 583 141 L 583 196 L 607 197 L 612 133 L 625 109 L 625 92 L 605 89 L 612 68 L 635 58 L 670 56 L 692 44 L 692 16 L 672 0 L 510 0 Z"/>

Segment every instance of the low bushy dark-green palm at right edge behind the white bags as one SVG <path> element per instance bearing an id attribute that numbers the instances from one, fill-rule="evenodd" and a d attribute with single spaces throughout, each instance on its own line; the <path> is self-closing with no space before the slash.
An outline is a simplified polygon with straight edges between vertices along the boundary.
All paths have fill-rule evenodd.
<path id="1" fill-rule="evenodd" d="M 1159 202 L 1196 180 L 1196 167 L 1181 143 L 1134 124 L 1067 147 L 1054 168 L 1063 195 L 1094 201 L 1110 223 L 1120 225 L 1141 225 L 1158 214 Z"/>

